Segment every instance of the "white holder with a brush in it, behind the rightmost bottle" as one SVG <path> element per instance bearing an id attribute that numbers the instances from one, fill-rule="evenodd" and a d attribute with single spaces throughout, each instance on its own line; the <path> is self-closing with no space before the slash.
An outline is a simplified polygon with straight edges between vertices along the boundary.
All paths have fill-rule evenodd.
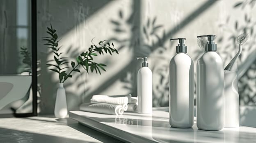
<path id="1" fill-rule="evenodd" d="M 224 127 L 239 127 L 237 71 L 225 71 Z"/>

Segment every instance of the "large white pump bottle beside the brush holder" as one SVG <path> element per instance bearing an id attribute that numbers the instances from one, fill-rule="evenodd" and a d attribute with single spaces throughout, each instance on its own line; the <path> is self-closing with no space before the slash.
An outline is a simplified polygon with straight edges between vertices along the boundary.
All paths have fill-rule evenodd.
<path id="1" fill-rule="evenodd" d="M 208 37 L 205 53 L 197 61 L 197 127 L 201 130 L 224 126 L 224 65 L 214 36 L 197 36 Z"/>

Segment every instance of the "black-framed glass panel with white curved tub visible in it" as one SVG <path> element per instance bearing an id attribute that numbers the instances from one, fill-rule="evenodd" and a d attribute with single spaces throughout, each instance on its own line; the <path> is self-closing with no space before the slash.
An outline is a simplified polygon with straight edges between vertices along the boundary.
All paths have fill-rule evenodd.
<path id="1" fill-rule="evenodd" d="M 0 1 L 0 117 L 36 115 L 36 11 L 32 15 L 31 2 Z"/>

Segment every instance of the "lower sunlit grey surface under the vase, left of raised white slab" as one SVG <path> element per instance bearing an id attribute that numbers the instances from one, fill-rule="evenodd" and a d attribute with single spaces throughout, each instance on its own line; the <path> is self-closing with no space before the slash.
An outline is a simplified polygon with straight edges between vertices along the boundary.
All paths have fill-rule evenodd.
<path id="1" fill-rule="evenodd" d="M 122 143 L 78 124 L 53 116 L 0 118 L 0 143 Z"/>

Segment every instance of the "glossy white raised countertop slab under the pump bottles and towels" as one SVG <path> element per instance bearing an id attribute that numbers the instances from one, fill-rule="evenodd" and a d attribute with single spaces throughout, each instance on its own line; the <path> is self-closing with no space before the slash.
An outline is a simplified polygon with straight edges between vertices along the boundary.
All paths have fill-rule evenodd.
<path id="1" fill-rule="evenodd" d="M 256 128 L 240 126 L 221 131 L 170 127 L 169 113 L 153 111 L 153 116 L 125 113 L 123 115 L 97 114 L 83 111 L 69 112 L 70 118 L 81 124 L 126 142 L 134 143 L 256 143 Z"/>

